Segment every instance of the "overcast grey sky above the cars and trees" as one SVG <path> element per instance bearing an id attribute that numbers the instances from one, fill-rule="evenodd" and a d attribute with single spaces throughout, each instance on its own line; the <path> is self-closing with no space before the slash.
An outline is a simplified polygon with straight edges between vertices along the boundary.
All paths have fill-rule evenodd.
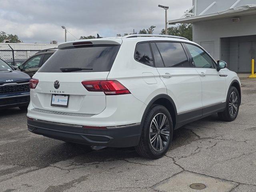
<path id="1" fill-rule="evenodd" d="M 138 32 L 156 26 L 164 28 L 164 10 L 168 20 L 180 18 L 192 6 L 192 0 L 0 0 L 0 31 L 17 34 L 26 43 L 64 41 L 64 29 L 79 38 L 103 37 Z M 75 40 L 67 34 L 67 40 Z"/>

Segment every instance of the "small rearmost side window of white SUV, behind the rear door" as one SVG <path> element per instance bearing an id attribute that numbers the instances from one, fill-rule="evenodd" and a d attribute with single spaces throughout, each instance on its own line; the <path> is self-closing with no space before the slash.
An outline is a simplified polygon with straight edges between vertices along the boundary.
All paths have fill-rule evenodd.
<path id="1" fill-rule="evenodd" d="M 146 64 L 149 66 L 154 66 L 149 43 L 137 44 L 134 57 L 135 57 L 135 60 L 140 63 Z"/>

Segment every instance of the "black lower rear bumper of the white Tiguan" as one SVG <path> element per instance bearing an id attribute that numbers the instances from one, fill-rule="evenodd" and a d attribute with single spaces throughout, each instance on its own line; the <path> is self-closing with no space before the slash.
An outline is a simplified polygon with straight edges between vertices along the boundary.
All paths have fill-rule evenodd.
<path id="1" fill-rule="evenodd" d="M 90 129 L 82 128 L 82 126 L 30 119 L 28 119 L 28 130 L 35 134 L 67 142 L 108 147 L 136 146 L 141 135 L 140 125 L 111 129 Z"/>

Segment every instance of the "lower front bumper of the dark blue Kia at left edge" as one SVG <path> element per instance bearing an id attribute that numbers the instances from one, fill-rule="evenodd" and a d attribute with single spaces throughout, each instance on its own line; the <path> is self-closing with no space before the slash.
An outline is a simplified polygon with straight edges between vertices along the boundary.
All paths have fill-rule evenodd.
<path id="1" fill-rule="evenodd" d="M 9 95 L 9 96 L 4 96 L 4 97 L 0 96 L 0 109 L 1 108 L 28 106 L 29 102 L 30 102 L 29 92 Z"/>

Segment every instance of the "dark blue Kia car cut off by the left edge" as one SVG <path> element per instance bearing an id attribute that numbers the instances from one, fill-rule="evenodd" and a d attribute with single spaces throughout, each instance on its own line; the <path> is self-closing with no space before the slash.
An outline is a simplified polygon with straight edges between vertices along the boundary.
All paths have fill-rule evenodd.
<path id="1" fill-rule="evenodd" d="M 30 76 L 14 70 L 0 59 L 0 108 L 26 110 L 30 102 Z"/>

